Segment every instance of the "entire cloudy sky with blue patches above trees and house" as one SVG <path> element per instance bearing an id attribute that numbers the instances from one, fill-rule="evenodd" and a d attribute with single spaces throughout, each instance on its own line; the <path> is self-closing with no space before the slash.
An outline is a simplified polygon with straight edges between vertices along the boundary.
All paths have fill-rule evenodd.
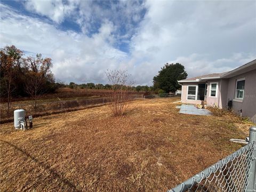
<path id="1" fill-rule="evenodd" d="M 189 77 L 256 59 L 256 1 L 1 1 L 1 47 L 53 60 L 57 80 L 151 85 L 166 62 Z"/>

